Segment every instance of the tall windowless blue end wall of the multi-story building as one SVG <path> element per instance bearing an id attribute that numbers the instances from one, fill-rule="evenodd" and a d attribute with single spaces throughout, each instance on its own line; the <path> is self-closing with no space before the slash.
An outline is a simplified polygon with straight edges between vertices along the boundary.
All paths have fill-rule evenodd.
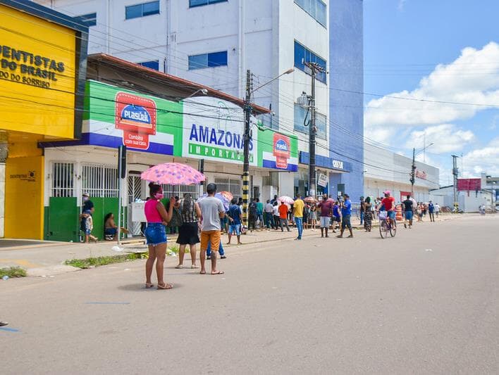
<path id="1" fill-rule="evenodd" d="M 363 2 L 362 0 L 331 1 L 329 9 L 329 84 L 331 96 L 329 125 L 331 158 L 352 163 L 352 171 L 333 174 L 331 193 L 336 195 L 337 184 L 345 184 L 345 191 L 353 201 L 364 194 L 363 160 Z M 347 91 L 355 91 L 346 92 Z"/>

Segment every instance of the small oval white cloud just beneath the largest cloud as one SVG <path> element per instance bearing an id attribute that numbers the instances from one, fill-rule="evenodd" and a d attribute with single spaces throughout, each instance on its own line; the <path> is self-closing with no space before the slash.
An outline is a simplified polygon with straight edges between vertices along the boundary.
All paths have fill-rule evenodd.
<path id="1" fill-rule="evenodd" d="M 407 138 L 405 147 L 424 148 L 433 143 L 428 148 L 431 153 L 452 153 L 461 151 L 474 140 L 475 135 L 472 131 L 457 129 L 452 124 L 443 124 L 412 132 Z"/>

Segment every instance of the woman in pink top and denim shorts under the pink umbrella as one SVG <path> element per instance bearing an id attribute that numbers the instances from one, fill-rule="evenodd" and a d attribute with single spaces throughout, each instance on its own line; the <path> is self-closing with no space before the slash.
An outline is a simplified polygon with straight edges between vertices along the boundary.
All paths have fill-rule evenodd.
<path id="1" fill-rule="evenodd" d="M 166 257 L 166 226 L 173 215 L 173 205 L 175 198 L 171 198 L 170 209 L 166 212 L 165 206 L 161 203 L 163 190 L 158 184 L 149 184 L 149 196 L 151 199 L 144 206 L 144 213 L 147 220 L 145 236 L 149 248 L 149 258 L 146 262 L 146 288 L 152 288 L 151 275 L 154 261 L 156 260 L 156 275 L 158 278 L 158 289 L 171 289 L 172 284 L 167 284 L 163 280 L 164 261 Z"/>

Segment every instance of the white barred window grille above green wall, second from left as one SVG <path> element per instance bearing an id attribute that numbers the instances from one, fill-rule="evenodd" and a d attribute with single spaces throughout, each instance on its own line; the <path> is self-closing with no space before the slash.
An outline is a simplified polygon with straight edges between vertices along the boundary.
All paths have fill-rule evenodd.
<path id="1" fill-rule="evenodd" d="M 118 169 L 110 165 L 82 165 L 82 187 L 95 198 L 118 198 Z"/>

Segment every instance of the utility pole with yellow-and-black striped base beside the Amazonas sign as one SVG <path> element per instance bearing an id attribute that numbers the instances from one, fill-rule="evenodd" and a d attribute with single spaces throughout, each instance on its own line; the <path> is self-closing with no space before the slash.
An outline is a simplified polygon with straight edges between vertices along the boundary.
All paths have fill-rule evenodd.
<path id="1" fill-rule="evenodd" d="M 251 70 L 246 71 L 246 98 L 245 98 L 245 133 L 242 136 L 244 141 L 244 162 L 242 164 L 242 225 L 248 225 L 248 198 L 250 193 L 250 139 L 251 139 L 251 93 L 252 93 Z"/>

